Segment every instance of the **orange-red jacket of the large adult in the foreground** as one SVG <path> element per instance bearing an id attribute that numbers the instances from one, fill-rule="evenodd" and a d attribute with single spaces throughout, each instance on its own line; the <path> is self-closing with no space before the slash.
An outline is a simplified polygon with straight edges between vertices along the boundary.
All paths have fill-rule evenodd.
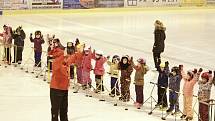
<path id="1" fill-rule="evenodd" d="M 65 57 L 64 51 L 60 48 L 51 50 L 48 55 L 53 55 L 52 79 L 50 88 L 68 90 L 69 88 L 69 65 L 74 63 L 74 56 Z"/>

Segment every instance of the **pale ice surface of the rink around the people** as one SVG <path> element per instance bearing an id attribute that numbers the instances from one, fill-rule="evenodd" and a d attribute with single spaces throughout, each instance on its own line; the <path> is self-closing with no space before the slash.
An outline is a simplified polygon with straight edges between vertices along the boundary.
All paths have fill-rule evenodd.
<path id="1" fill-rule="evenodd" d="M 183 64 L 185 69 L 202 67 L 215 70 L 215 9 L 193 10 L 156 10 L 156 11 L 106 11 L 71 14 L 26 14 L 0 16 L 0 26 L 9 24 L 14 29 L 22 25 L 27 34 L 24 60 L 33 58 L 29 35 L 36 30 L 46 34 L 55 34 L 66 45 L 68 41 L 79 38 L 94 49 L 103 50 L 105 55 L 130 55 L 135 59 L 144 57 L 152 69 L 152 46 L 154 42 L 154 21 L 159 19 L 166 26 L 165 52 L 162 60 L 169 61 L 170 67 Z M 2 28 L 0 31 L 3 31 Z M 47 44 L 43 46 L 47 49 Z M 2 53 L 2 49 L 1 49 Z M 45 54 L 43 59 L 45 60 Z M 29 65 L 29 66 L 33 66 Z M 106 68 L 108 71 L 108 68 Z M 134 74 L 134 72 L 133 72 Z M 92 75 L 93 77 L 93 75 Z M 132 76 L 133 77 L 133 76 Z M 110 87 L 108 75 L 105 76 L 107 88 Z M 149 71 L 145 76 L 145 99 L 150 96 L 157 74 Z M 50 121 L 49 85 L 34 74 L 25 73 L 13 65 L 0 66 L 0 112 L 4 121 Z M 183 82 L 181 83 L 181 88 Z M 198 86 L 195 87 L 197 94 Z M 131 85 L 132 98 L 135 99 L 134 86 Z M 153 91 L 156 96 L 157 89 Z M 107 95 L 105 95 L 107 97 Z M 162 111 L 155 110 L 152 115 L 150 101 L 142 109 L 136 109 L 132 101 L 114 107 L 116 101 L 99 102 L 99 96 L 85 97 L 85 92 L 69 94 L 69 121 L 159 121 Z M 215 99 L 215 88 L 211 98 Z M 193 103 L 196 102 L 194 98 Z M 180 104 L 182 104 L 182 96 Z M 124 110 L 125 108 L 128 110 Z M 153 103 L 154 107 L 154 103 Z M 197 109 L 197 105 L 194 109 Z M 183 106 L 181 105 L 182 109 Z M 165 112 L 164 112 L 165 113 Z M 195 120 L 196 115 L 194 116 Z M 174 121 L 175 117 L 167 117 Z M 176 120 L 180 120 L 176 117 Z"/>

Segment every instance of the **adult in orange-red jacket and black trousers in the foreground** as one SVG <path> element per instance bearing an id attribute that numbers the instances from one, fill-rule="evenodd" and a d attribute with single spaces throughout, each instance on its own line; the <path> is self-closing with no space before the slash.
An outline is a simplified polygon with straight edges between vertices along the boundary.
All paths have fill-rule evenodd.
<path id="1" fill-rule="evenodd" d="M 52 79 L 50 83 L 50 100 L 52 121 L 68 121 L 68 89 L 69 89 L 69 67 L 74 63 L 74 57 L 69 57 L 66 50 L 60 48 L 59 39 L 54 39 L 51 51 L 48 53 L 53 57 Z"/>

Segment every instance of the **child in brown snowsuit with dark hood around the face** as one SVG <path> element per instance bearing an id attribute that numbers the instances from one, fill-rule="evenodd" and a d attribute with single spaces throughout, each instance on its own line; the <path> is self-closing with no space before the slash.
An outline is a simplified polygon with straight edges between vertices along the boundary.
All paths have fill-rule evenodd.
<path id="1" fill-rule="evenodd" d="M 130 101 L 130 84 L 133 68 L 129 61 L 128 56 L 123 56 L 119 62 L 119 70 L 121 71 L 121 97 L 119 97 L 119 100 L 122 100 L 123 102 Z"/>

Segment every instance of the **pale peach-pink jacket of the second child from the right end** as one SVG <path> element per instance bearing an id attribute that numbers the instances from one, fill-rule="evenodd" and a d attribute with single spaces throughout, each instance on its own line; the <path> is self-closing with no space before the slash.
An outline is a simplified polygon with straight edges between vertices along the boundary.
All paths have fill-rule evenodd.
<path id="1" fill-rule="evenodd" d="M 193 88 L 199 79 L 199 75 L 200 73 L 198 72 L 197 74 L 194 75 L 192 80 L 188 81 L 187 75 L 185 74 L 184 71 L 182 71 L 182 78 L 185 81 L 183 87 L 184 96 L 193 96 Z"/>

